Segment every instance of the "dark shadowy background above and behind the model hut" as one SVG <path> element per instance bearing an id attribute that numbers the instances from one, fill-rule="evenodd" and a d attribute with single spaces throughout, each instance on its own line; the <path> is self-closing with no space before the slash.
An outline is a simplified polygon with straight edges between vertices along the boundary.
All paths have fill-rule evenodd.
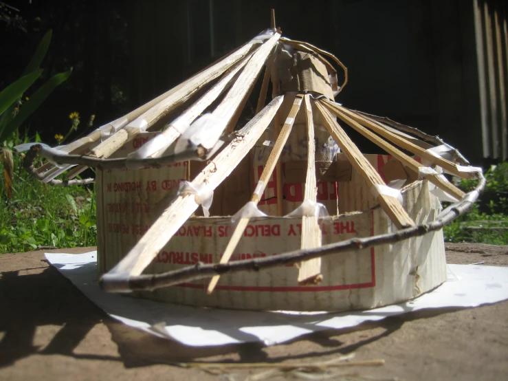
<path id="1" fill-rule="evenodd" d="M 74 71 L 27 127 L 55 144 L 72 111 L 81 116 L 78 135 L 91 114 L 94 129 L 119 118 L 269 28 L 275 8 L 284 36 L 332 52 L 348 67 L 349 83 L 336 101 L 440 135 L 485 164 L 496 157 L 482 153 L 474 3 L 4 0 L 0 88 L 21 76 L 52 29 L 40 82 Z"/>

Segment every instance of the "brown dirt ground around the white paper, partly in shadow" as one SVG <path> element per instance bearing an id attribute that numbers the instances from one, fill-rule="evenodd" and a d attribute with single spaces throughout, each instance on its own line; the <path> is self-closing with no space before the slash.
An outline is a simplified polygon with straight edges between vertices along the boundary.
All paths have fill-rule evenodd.
<path id="1" fill-rule="evenodd" d="M 447 257 L 450 263 L 507 266 L 508 246 L 448 244 Z M 174 363 L 301 364 L 353 352 L 355 360 L 386 361 L 382 367 L 343 370 L 374 380 L 508 380 L 508 301 L 475 309 L 405 314 L 274 347 L 244 344 L 196 349 L 115 322 L 49 267 L 43 251 L 0 255 L 0 272 L 1 380 L 240 381 L 265 370 L 213 375 Z"/>

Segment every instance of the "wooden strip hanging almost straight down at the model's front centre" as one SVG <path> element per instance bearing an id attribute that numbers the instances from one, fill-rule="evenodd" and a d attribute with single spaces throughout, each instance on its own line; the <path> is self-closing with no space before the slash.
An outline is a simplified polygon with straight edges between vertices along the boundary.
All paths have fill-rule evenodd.
<path id="1" fill-rule="evenodd" d="M 305 118 L 307 121 L 307 175 L 305 179 L 305 193 L 303 202 L 316 203 L 316 140 L 314 140 L 314 122 L 309 94 L 304 97 Z M 321 230 L 318 215 L 302 216 L 302 250 L 319 248 L 321 246 Z M 309 259 L 299 263 L 298 284 L 317 284 L 322 281 L 321 258 Z"/>

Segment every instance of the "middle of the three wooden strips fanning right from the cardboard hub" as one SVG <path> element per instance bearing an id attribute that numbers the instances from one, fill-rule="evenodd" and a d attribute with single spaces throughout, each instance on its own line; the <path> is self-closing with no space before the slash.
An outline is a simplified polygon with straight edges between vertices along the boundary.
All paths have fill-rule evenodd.
<path id="1" fill-rule="evenodd" d="M 360 125 L 358 122 L 355 122 L 355 120 L 349 118 L 349 116 L 346 116 L 344 113 L 338 109 L 338 107 L 334 107 L 334 104 L 331 102 L 323 102 L 324 105 L 326 105 L 335 115 L 337 115 L 340 119 L 342 119 L 344 122 L 349 124 L 353 129 L 364 135 L 368 140 L 371 140 L 371 142 L 377 144 L 377 146 L 384 149 L 384 151 L 388 152 L 390 155 L 393 155 L 399 162 L 401 162 L 404 166 L 407 166 L 412 171 L 419 173 L 420 168 L 424 168 L 425 166 L 423 164 L 420 164 L 412 157 L 409 157 L 404 152 L 397 149 L 397 147 L 393 146 L 392 144 L 386 142 L 386 140 L 383 140 L 382 138 L 379 138 L 379 136 L 375 135 L 372 131 L 366 129 L 362 125 Z M 423 174 L 421 177 L 423 179 L 427 179 L 432 184 L 438 186 L 439 188 L 443 189 L 446 193 L 449 193 L 456 199 L 462 199 L 464 197 L 465 193 L 454 186 L 451 182 L 449 182 L 447 179 L 443 177 L 443 175 L 439 175 L 437 172 L 434 171 L 433 174 Z"/>

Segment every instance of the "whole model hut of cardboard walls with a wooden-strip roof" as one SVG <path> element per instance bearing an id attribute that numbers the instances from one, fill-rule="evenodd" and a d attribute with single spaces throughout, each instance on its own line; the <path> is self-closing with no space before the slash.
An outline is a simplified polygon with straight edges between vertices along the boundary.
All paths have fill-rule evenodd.
<path id="1" fill-rule="evenodd" d="M 240 128 L 258 78 L 256 115 Z M 87 137 L 32 145 L 25 167 L 55 185 L 93 182 L 74 177 L 96 168 L 107 292 L 238 309 L 406 301 L 445 281 L 441 228 L 470 208 L 483 176 L 439 138 L 335 102 L 346 82 L 335 56 L 272 20 Z M 389 156 L 363 154 L 348 129 Z M 36 155 L 47 163 L 34 168 Z M 443 171 L 481 181 L 466 195 Z"/>

